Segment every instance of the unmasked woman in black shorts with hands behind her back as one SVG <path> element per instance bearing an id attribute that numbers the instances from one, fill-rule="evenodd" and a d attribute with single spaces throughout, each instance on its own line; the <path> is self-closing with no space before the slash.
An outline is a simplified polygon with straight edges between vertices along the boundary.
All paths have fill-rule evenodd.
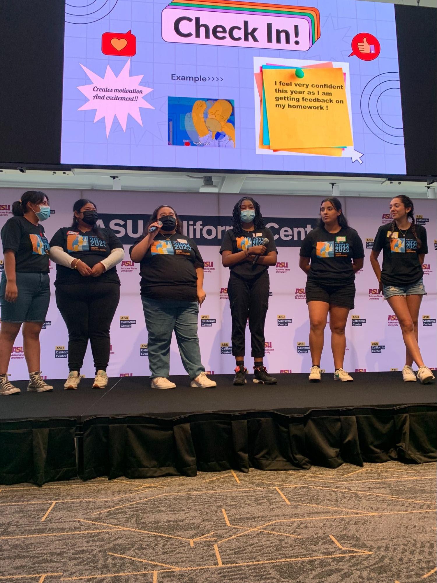
<path id="1" fill-rule="evenodd" d="M 325 326 L 329 314 L 334 380 L 353 381 L 343 369 L 346 352 L 346 328 L 349 311 L 355 301 L 355 273 L 364 264 L 364 248 L 355 229 L 348 225 L 338 198 L 325 198 L 320 205 L 320 219 L 301 245 L 299 267 L 306 279 L 306 304 L 309 312 L 309 349 L 312 367 L 310 382 L 322 380 Z"/>

